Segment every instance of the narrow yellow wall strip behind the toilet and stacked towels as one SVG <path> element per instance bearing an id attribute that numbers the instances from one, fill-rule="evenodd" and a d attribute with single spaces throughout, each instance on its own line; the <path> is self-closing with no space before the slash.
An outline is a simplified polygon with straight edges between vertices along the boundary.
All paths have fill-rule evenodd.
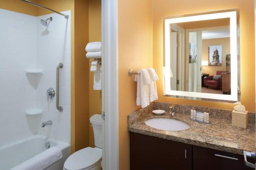
<path id="1" fill-rule="evenodd" d="M 101 0 L 89 1 L 89 41 L 101 41 Z M 93 59 L 90 59 L 93 61 Z M 93 90 L 93 72 L 90 72 L 89 81 L 89 115 L 101 114 L 101 90 Z M 90 147 L 94 147 L 93 128 L 90 128 Z"/>

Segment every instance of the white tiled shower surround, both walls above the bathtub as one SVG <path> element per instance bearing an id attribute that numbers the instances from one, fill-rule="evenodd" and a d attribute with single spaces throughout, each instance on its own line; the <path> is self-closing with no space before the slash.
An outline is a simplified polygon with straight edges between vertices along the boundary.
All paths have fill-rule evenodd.
<path id="1" fill-rule="evenodd" d="M 42 26 L 40 19 L 50 16 L 49 27 Z M 58 14 L 34 17 L 3 9 L 0 17 L 0 146 L 33 133 L 70 142 L 71 17 L 67 21 Z M 60 77 L 63 112 L 56 109 L 56 98 L 47 101 L 46 96 L 49 87 L 56 90 L 59 62 L 64 64 Z M 41 68 L 43 74 L 27 75 L 31 68 Z M 25 114 L 32 108 L 44 110 L 37 127 Z M 53 126 L 40 128 L 50 119 Z"/>

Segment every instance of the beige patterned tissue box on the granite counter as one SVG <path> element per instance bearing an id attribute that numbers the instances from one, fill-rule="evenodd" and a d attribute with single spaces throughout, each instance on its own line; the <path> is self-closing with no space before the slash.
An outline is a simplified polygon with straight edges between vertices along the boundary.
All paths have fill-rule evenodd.
<path id="1" fill-rule="evenodd" d="M 238 112 L 232 111 L 232 126 L 244 128 L 248 127 L 249 115 L 248 111 L 246 112 Z"/>

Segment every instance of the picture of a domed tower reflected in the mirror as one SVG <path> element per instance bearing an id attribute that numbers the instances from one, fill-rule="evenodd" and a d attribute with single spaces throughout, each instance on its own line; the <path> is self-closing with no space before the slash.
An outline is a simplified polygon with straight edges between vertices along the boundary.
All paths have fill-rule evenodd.
<path id="1" fill-rule="evenodd" d="M 208 57 L 210 66 L 221 66 L 222 65 L 222 46 L 221 45 L 210 45 L 208 46 Z"/>

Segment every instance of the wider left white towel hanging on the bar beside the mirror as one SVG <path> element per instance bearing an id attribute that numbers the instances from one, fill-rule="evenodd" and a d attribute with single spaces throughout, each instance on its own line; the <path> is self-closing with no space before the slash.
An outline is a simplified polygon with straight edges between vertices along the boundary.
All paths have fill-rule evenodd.
<path id="1" fill-rule="evenodd" d="M 150 105 L 150 98 L 148 88 L 151 84 L 150 74 L 147 69 L 139 69 L 139 74 L 135 76 L 135 82 L 137 82 L 137 98 L 136 104 L 142 108 Z"/>

